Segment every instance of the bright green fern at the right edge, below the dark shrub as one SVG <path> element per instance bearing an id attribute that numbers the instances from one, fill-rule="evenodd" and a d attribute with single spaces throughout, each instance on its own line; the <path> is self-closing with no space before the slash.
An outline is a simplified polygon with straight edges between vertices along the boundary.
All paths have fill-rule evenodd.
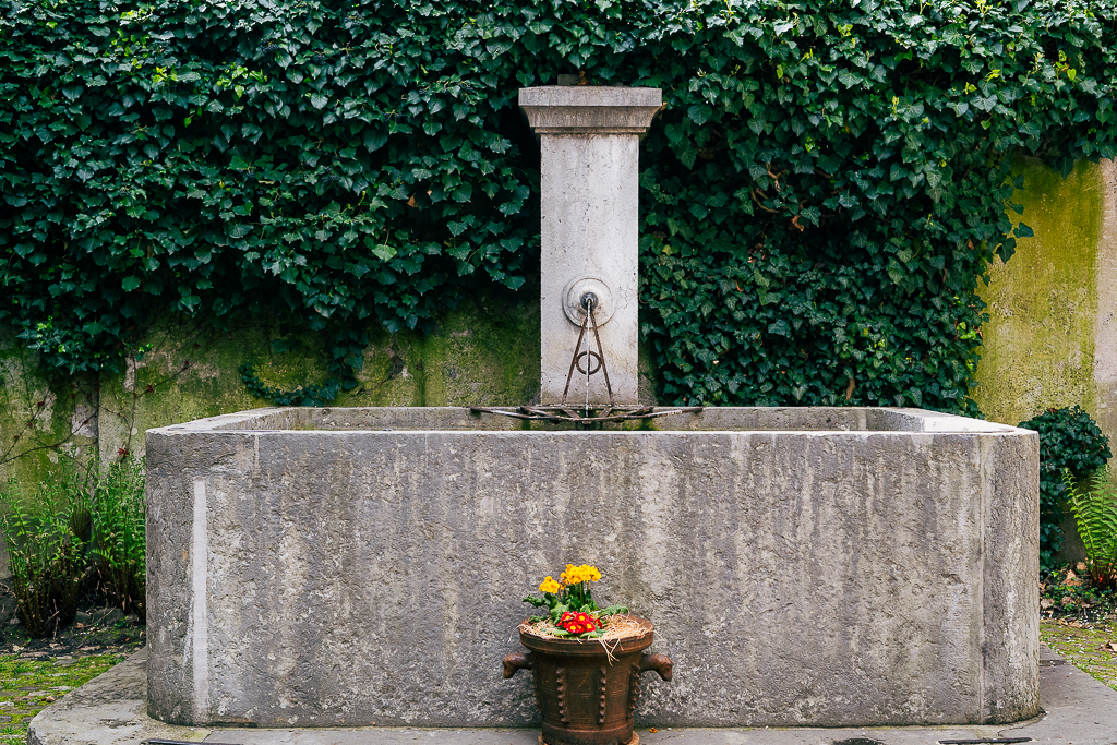
<path id="1" fill-rule="evenodd" d="M 1117 589 L 1117 474 L 1106 466 L 1092 478 L 1075 483 L 1063 474 L 1067 504 L 1086 546 L 1086 569 L 1100 590 Z"/>

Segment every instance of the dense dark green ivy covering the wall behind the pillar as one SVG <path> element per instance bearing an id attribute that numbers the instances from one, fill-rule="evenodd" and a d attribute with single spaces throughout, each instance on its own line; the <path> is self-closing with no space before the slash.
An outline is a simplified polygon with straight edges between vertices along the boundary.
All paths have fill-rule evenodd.
<path id="1" fill-rule="evenodd" d="M 663 88 L 661 395 L 974 413 L 1010 155 L 1113 156 L 1113 0 L 544 0 L 0 11 L 0 323 L 112 367 L 163 312 L 428 328 L 534 271 L 521 86 Z M 479 278 L 479 279 L 478 279 Z M 341 380 L 341 379 L 338 379 Z"/>

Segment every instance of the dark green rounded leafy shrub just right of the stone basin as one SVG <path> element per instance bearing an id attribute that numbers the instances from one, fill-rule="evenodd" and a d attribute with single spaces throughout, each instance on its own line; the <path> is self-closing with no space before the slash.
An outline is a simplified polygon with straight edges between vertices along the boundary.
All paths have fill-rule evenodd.
<path id="1" fill-rule="evenodd" d="M 1040 436 L 1040 563 L 1051 566 L 1062 544 L 1062 505 L 1067 497 L 1065 474 L 1083 479 L 1113 457 L 1109 439 L 1079 407 L 1049 409 L 1020 422 Z"/>

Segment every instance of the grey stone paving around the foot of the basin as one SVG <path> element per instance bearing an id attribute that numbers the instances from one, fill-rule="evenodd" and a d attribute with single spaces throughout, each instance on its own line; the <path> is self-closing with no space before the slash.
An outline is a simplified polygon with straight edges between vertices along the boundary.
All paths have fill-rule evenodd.
<path id="1" fill-rule="evenodd" d="M 44 709 L 28 745 L 140 745 L 166 738 L 229 745 L 535 745 L 524 729 L 197 729 L 172 727 L 144 713 L 146 650 Z M 1011 726 L 858 729 L 641 730 L 641 745 L 934 745 L 1030 738 L 1041 745 L 1117 745 L 1117 691 L 1066 663 L 1046 647 L 1040 706 L 1046 714 Z M 976 741 L 976 742 L 974 742 Z M 1020 742 L 1020 741 L 1018 741 Z"/>

